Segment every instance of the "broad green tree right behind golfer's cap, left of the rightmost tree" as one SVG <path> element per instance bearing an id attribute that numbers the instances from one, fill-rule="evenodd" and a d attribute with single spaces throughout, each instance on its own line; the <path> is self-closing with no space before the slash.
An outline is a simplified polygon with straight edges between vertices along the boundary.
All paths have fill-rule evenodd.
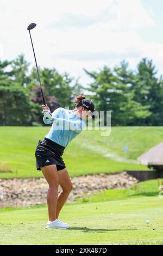
<path id="1" fill-rule="evenodd" d="M 112 125 L 131 125 L 137 117 L 149 115 L 147 107 L 133 100 L 130 87 L 134 74 L 127 68 L 128 64 L 122 62 L 113 71 L 106 66 L 98 73 L 86 71 L 95 80 L 89 90 L 95 93 L 96 110 L 111 111 Z"/>

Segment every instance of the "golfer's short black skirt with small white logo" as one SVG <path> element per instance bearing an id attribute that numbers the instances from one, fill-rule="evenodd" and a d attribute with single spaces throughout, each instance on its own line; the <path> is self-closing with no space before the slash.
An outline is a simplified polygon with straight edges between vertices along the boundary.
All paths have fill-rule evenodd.
<path id="1" fill-rule="evenodd" d="M 64 149 L 64 147 L 51 141 L 51 139 L 44 138 L 43 141 L 39 141 L 35 151 L 37 170 L 41 170 L 41 167 L 50 166 L 51 164 L 56 164 L 57 170 L 66 168 L 61 157 Z"/>

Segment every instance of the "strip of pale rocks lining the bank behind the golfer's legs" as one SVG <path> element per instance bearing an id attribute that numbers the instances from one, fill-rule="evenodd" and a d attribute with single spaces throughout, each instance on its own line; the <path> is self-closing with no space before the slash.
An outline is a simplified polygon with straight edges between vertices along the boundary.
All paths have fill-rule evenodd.
<path id="1" fill-rule="evenodd" d="M 72 178 L 73 190 L 67 203 L 91 192 L 129 188 L 139 182 L 126 172 L 118 174 L 86 175 Z M 0 179 L 0 207 L 46 204 L 48 184 L 44 178 Z M 59 192 L 61 187 L 59 187 Z"/>

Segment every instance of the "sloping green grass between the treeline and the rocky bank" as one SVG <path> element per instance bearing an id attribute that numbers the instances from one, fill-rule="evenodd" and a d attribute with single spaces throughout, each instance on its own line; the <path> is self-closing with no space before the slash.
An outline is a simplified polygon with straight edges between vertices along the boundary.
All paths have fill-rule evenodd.
<path id="1" fill-rule="evenodd" d="M 7 162 L 12 173 L 0 173 L 0 178 L 40 177 L 35 167 L 35 148 L 51 126 L 0 127 L 0 166 Z M 147 169 L 136 163 L 146 150 L 163 140 L 162 127 L 111 127 L 111 134 L 102 131 L 83 131 L 65 149 L 63 159 L 70 176 L 114 173 L 122 170 Z M 128 145 L 127 157 L 123 147 Z M 16 174 L 17 172 L 17 174 Z"/>

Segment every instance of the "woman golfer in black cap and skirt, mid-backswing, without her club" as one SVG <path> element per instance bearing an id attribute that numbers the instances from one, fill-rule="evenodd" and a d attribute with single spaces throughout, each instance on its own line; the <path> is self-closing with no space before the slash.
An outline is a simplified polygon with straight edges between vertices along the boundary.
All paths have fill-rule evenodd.
<path id="1" fill-rule="evenodd" d="M 60 210 L 64 206 L 72 190 L 72 183 L 67 168 L 62 160 L 65 147 L 73 138 L 84 130 L 86 117 L 95 118 L 95 106 L 85 96 L 75 98 L 76 107 L 73 110 L 57 108 L 53 113 L 49 107 L 42 105 L 43 121 L 52 124 L 51 129 L 43 141 L 39 141 L 35 156 L 37 170 L 42 170 L 48 182 L 47 205 L 49 221 L 46 228 L 67 229 L 70 226 L 58 219 Z M 62 191 L 58 194 L 58 186 Z"/>

